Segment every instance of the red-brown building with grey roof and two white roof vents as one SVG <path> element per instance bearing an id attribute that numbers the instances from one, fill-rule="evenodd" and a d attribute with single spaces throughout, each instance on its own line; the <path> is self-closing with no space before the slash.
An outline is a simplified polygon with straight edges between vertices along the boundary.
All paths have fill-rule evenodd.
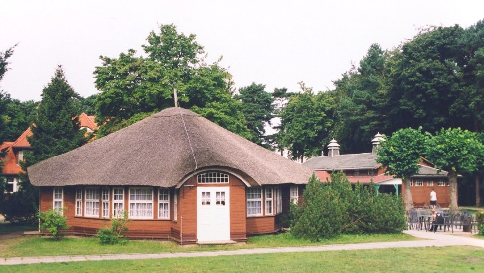
<path id="1" fill-rule="evenodd" d="M 387 175 L 385 168 L 376 162 L 376 148 L 380 146 L 383 138 L 380 134 L 375 135 L 372 142 L 371 153 L 340 155 L 340 145 L 336 140 L 331 140 L 328 145 L 328 156 L 313 157 L 303 165 L 310 167 L 321 181 L 331 179 L 331 172 L 343 171 L 351 183 L 360 182 L 375 184 L 379 193 L 402 193 L 404 184 L 402 179 Z M 446 207 L 450 203 L 450 189 L 447 172 L 432 167 L 432 164 L 422 157 L 419 162 L 418 174 L 412 176 L 412 197 L 414 207 L 422 207 L 430 201 L 430 191 L 433 187 L 437 193 L 437 202 Z"/>

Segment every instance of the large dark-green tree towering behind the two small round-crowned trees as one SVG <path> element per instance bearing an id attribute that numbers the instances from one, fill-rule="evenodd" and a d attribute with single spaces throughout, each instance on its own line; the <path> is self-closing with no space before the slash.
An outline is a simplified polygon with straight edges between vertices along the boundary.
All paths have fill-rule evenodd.
<path id="1" fill-rule="evenodd" d="M 465 94 L 459 66 L 463 36 L 464 29 L 458 25 L 430 28 L 396 52 L 389 92 L 393 129 L 422 126 L 424 131 L 435 132 L 457 124 L 471 126 L 454 110 L 462 109 Z"/>

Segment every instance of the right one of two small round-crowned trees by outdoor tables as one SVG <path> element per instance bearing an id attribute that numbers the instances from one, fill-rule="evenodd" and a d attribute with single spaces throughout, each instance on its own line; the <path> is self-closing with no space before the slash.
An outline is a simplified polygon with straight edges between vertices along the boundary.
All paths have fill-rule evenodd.
<path id="1" fill-rule="evenodd" d="M 439 169 L 448 171 L 450 206 L 458 209 L 457 175 L 477 171 L 484 145 L 475 132 L 461 128 L 442 128 L 431 137 L 427 145 L 427 158 Z"/>

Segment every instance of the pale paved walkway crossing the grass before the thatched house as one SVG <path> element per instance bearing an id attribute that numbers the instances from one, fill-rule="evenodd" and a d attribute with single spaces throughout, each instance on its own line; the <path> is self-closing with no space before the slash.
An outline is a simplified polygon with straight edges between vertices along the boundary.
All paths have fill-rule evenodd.
<path id="1" fill-rule="evenodd" d="M 425 232 L 409 230 L 406 234 L 427 240 L 377 242 L 359 244 L 337 244 L 322 246 L 303 247 L 280 247 L 280 248 L 252 248 L 239 250 L 203 251 L 203 252 L 179 252 L 179 253 L 148 253 L 148 254 L 99 254 L 99 255 L 68 255 L 68 256 L 43 256 L 43 257 L 15 257 L 0 259 L 0 265 L 36 264 L 36 263 L 60 263 L 80 261 L 104 261 L 104 260 L 140 260 L 140 259 L 166 259 L 185 257 L 214 257 L 228 255 L 248 255 L 265 253 L 288 253 L 288 252 L 317 252 L 335 250 L 359 250 L 359 249 L 382 249 L 382 248 L 408 248 L 427 246 L 456 246 L 467 245 L 484 248 L 484 240 L 470 237 L 450 235 L 442 232 Z"/>

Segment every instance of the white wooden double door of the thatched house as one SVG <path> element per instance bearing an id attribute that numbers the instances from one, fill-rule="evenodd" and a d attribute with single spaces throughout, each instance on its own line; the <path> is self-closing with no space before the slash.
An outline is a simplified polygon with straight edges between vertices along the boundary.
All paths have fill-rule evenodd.
<path id="1" fill-rule="evenodd" d="M 197 240 L 230 240 L 229 187 L 197 187 Z"/>

